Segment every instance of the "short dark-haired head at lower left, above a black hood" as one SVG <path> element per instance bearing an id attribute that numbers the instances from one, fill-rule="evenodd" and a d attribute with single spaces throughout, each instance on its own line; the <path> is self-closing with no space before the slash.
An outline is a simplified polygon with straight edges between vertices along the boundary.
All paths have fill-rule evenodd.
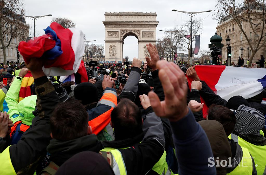
<path id="1" fill-rule="evenodd" d="M 88 135 L 88 113 L 76 100 L 59 103 L 50 118 L 54 139 L 67 141 Z"/>

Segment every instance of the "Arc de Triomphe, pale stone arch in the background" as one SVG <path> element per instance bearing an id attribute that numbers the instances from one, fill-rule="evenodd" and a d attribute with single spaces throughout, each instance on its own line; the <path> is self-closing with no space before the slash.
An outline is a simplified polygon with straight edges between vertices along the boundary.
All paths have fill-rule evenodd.
<path id="1" fill-rule="evenodd" d="M 138 58 L 145 62 L 145 56 L 149 55 L 146 44 L 156 43 L 156 27 L 159 23 L 156 16 L 156 13 L 105 13 L 105 61 L 123 62 L 123 41 L 132 35 L 138 39 Z"/>

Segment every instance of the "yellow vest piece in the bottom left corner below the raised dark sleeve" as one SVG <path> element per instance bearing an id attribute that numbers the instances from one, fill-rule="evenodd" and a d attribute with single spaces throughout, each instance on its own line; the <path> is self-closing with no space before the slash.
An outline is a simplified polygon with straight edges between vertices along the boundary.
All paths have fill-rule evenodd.
<path id="1" fill-rule="evenodd" d="M 0 153 L 0 161 L 1 161 L 0 174 L 5 174 L 5 175 L 16 174 L 10 159 L 9 147 L 7 147 L 2 153 Z"/>

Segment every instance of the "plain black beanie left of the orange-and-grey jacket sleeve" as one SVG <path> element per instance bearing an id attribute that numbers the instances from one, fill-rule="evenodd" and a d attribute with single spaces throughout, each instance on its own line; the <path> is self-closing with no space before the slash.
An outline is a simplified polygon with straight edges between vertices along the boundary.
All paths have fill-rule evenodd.
<path id="1" fill-rule="evenodd" d="M 82 105 L 88 105 L 93 102 L 98 102 L 98 91 L 94 84 L 84 82 L 76 86 L 74 89 L 74 97 L 80 100 Z"/>

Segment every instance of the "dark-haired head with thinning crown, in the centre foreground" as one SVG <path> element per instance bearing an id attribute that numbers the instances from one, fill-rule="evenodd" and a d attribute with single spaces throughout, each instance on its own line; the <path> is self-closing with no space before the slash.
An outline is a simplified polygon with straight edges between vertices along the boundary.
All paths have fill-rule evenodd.
<path id="1" fill-rule="evenodd" d="M 111 121 L 115 131 L 115 140 L 133 138 L 142 132 L 140 109 L 127 98 L 121 99 L 111 112 Z"/>

